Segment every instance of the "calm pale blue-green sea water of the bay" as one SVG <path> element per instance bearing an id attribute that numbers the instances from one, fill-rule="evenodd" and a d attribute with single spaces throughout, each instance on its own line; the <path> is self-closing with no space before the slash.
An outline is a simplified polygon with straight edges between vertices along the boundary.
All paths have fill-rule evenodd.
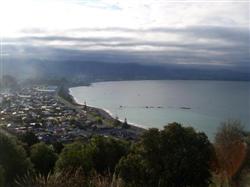
<path id="1" fill-rule="evenodd" d="M 212 138 L 218 125 L 239 119 L 250 129 L 250 82 L 119 81 L 70 89 L 76 101 L 144 127 L 179 122 Z"/>

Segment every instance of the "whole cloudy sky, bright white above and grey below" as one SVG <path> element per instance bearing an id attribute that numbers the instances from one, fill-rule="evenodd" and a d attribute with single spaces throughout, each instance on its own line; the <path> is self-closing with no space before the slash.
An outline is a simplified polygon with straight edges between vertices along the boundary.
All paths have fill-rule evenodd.
<path id="1" fill-rule="evenodd" d="M 248 0 L 0 0 L 13 58 L 250 67 Z"/>

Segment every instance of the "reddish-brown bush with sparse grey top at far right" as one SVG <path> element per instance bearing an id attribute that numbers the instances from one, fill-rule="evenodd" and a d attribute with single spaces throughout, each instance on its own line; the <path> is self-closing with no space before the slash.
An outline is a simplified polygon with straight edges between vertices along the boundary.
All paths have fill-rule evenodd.
<path id="1" fill-rule="evenodd" d="M 223 122 L 216 133 L 214 147 L 220 182 L 240 186 L 241 174 L 250 168 L 247 138 L 240 121 Z"/>

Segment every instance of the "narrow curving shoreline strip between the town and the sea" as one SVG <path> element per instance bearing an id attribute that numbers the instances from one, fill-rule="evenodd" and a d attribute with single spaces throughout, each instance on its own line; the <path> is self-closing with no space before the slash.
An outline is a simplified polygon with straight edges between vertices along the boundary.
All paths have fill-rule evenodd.
<path id="1" fill-rule="evenodd" d="M 71 90 L 69 87 L 63 88 L 63 95 L 61 95 L 59 93 L 60 91 L 57 91 L 57 96 L 61 97 L 62 99 L 66 100 L 68 103 L 70 103 L 73 107 L 77 107 L 78 110 L 83 111 L 83 108 L 85 107 L 85 110 L 88 112 L 94 112 L 95 114 L 99 115 L 101 118 L 103 119 L 107 119 L 110 120 L 112 122 L 114 122 L 115 117 L 113 117 L 113 114 L 106 109 L 103 108 L 97 108 L 94 106 L 90 106 L 90 105 L 84 105 L 81 104 L 81 102 L 77 101 L 77 99 L 75 97 L 72 96 L 71 94 Z M 119 122 L 122 124 L 124 123 L 123 120 L 118 119 Z M 141 127 L 140 125 L 136 125 L 136 124 L 131 124 L 131 123 L 127 123 L 128 125 L 128 130 L 133 131 L 135 134 L 140 135 L 142 134 L 144 131 L 146 131 L 146 128 Z"/>

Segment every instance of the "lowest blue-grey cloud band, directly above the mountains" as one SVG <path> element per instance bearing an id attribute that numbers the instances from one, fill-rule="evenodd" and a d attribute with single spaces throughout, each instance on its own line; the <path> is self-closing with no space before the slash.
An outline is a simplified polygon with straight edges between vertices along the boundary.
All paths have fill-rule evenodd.
<path id="1" fill-rule="evenodd" d="M 209 55 L 200 51 L 118 51 L 118 50 L 75 50 L 65 48 L 37 47 L 37 46 L 8 46 L 10 54 L 27 59 L 46 59 L 51 61 L 96 61 L 112 63 L 142 63 L 142 64 L 196 64 L 197 66 L 230 65 L 234 67 L 249 67 L 247 54 Z M 12 55 L 11 55 L 12 56 Z"/>

